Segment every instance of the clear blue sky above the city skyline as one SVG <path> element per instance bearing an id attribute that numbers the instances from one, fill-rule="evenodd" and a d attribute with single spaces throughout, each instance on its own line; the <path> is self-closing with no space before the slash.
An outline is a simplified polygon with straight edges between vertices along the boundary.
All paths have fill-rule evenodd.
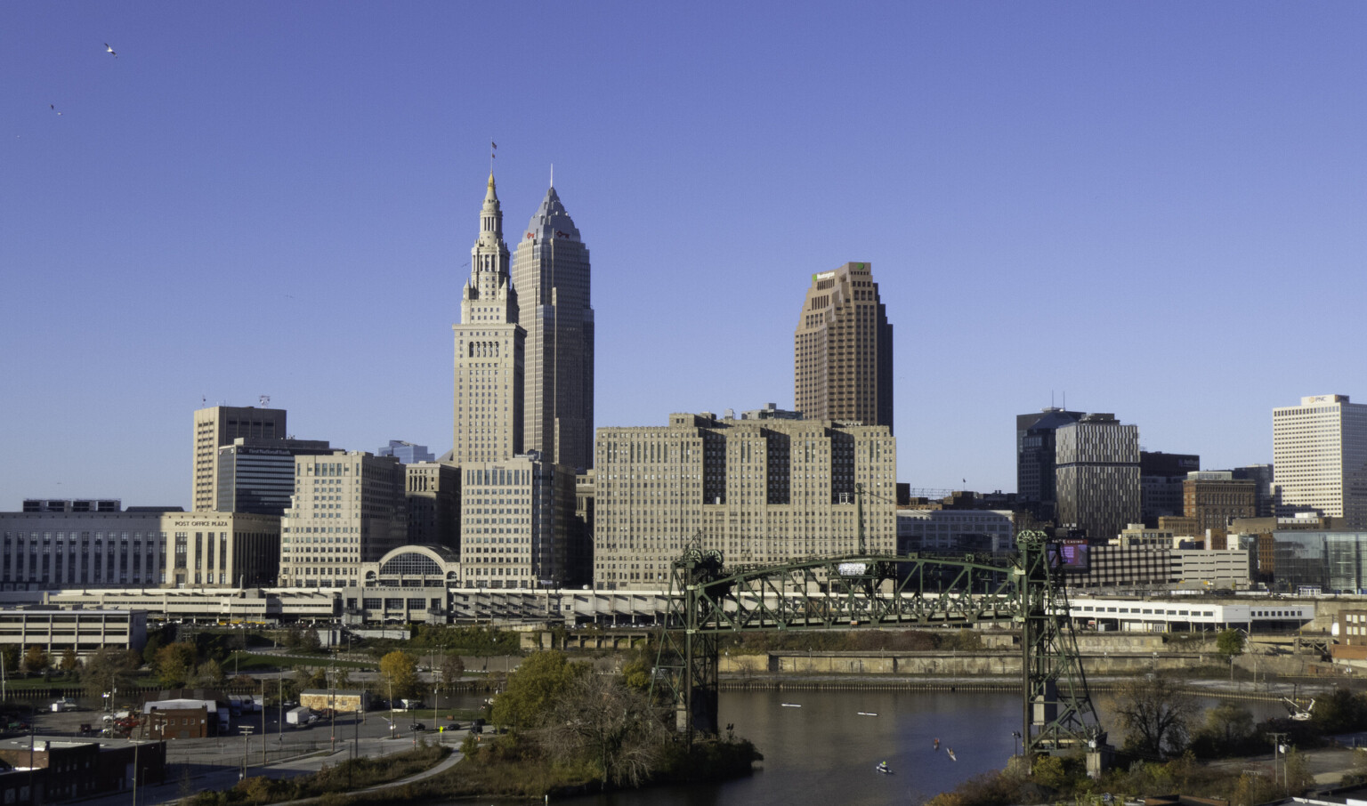
<path id="1" fill-rule="evenodd" d="M 1367 402 L 1363 3 L 0 8 L 0 508 L 190 504 L 191 417 L 450 448 L 498 142 L 592 251 L 596 425 L 793 406 L 813 272 L 869 261 L 898 477 L 1012 490 L 1014 415 L 1271 460 Z M 108 42 L 118 57 L 105 52 Z"/>

